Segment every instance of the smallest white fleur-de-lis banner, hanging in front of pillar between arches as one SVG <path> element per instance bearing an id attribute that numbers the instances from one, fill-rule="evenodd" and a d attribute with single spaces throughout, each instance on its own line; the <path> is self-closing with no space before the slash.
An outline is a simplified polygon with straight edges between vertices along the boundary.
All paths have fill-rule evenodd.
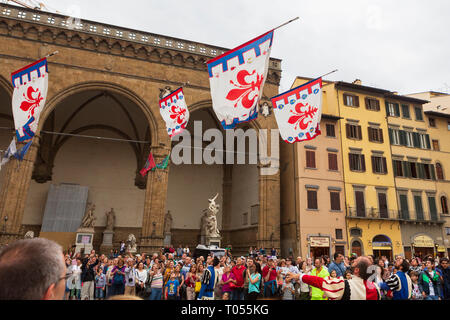
<path id="1" fill-rule="evenodd" d="M 189 121 L 189 109 L 184 99 L 183 89 L 179 88 L 159 101 L 159 111 L 164 121 L 168 135 L 181 133 Z"/>

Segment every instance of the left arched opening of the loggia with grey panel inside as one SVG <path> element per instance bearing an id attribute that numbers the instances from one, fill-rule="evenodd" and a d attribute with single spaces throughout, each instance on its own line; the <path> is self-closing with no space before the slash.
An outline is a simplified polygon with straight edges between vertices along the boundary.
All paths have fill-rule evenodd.
<path id="1" fill-rule="evenodd" d="M 23 216 L 25 228 L 55 235 L 76 232 L 73 226 L 81 223 L 86 203 L 91 202 L 96 206 L 94 248 L 102 243 L 105 213 L 111 208 L 116 214 L 114 245 L 129 233 L 139 239 L 146 192 L 139 170 L 153 131 L 132 93 L 109 88 L 71 88 L 47 105 Z M 77 221 L 67 222 L 70 219 Z"/>

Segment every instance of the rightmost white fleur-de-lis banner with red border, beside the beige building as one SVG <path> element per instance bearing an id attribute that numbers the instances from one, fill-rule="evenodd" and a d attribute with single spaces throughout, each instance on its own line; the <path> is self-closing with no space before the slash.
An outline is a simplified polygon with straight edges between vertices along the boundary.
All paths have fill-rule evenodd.
<path id="1" fill-rule="evenodd" d="M 322 78 L 279 94 L 271 100 L 284 141 L 307 141 L 320 135 Z"/>

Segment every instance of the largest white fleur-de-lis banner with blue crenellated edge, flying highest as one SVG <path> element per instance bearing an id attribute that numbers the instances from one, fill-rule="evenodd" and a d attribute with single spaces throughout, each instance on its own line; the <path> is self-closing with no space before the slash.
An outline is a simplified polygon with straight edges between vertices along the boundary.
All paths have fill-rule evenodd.
<path id="1" fill-rule="evenodd" d="M 224 129 L 258 116 L 273 30 L 207 62 L 213 109 Z"/>

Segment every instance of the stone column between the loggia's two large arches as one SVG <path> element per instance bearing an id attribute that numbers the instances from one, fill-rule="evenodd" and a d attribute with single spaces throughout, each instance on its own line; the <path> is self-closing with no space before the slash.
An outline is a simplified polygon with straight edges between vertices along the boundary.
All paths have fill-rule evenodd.
<path id="1" fill-rule="evenodd" d="M 169 154 L 169 150 L 162 147 L 153 147 L 152 154 L 155 162 L 159 163 Z M 141 252 L 159 252 L 159 249 L 163 247 L 168 182 L 169 167 L 164 170 L 149 171 L 147 174 L 140 242 Z"/>

